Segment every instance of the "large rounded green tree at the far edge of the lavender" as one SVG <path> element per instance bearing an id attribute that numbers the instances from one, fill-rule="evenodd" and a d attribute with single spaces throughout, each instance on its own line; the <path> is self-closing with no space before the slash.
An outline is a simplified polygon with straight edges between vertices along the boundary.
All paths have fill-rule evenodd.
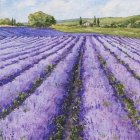
<path id="1" fill-rule="evenodd" d="M 53 16 L 39 11 L 28 16 L 28 23 L 32 27 L 49 27 L 56 24 L 56 20 Z"/>

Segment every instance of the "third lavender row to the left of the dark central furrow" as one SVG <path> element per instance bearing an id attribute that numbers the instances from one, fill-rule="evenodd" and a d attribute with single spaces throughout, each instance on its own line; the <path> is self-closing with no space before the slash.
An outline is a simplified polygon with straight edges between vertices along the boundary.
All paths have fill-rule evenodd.
<path id="1" fill-rule="evenodd" d="M 49 51 L 43 52 L 40 55 L 31 57 L 28 60 L 22 60 L 19 63 L 15 63 L 13 65 L 7 66 L 6 68 L 0 71 L 0 85 L 7 84 L 8 82 L 13 81 L 13 79 L 19 76 L 26 70 L 29 70 L 35 64 L 38 64 L 42 59 L 56 53 L 56 51 L 62 49 L 66 44 L 68 44 L 72 40 L 72 37 L 67 39 L 66 41 L 58 44 L 57 47 L 52 47 Z"/>

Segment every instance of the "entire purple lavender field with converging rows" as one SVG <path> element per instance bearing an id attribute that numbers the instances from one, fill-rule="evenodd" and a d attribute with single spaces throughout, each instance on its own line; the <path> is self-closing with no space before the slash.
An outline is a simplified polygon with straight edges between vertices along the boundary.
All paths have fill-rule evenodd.
<path id="1" fill-rule="evenodd" d="M 140 39 L 1 27 L 0 140 L 140 140 Z"/>

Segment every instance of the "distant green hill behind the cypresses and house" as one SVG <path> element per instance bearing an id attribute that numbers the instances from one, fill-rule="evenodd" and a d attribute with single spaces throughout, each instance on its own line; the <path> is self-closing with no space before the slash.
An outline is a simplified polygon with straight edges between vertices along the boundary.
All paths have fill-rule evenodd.
<path id="1" fill-rule="evenodd" d="M 93 18 L 83 18 L 83 22 L 93 22 Z M 79 19 L 60 20 L 58 25 L 76 26 Z M 100 18 L 100 25 L 103 27 L 119 26 L 119 27 L 140 27 L 140 15 L 129 17 L 105 17 Z"/>

